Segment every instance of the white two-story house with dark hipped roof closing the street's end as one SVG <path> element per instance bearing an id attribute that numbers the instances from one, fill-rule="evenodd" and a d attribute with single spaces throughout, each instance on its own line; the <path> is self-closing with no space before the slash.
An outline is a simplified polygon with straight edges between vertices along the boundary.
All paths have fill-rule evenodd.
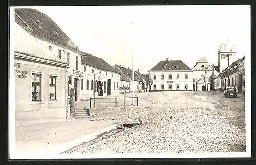
<path id="1" fill-rule="evenodd" d="M 160 61 L 150 71 L 153 77 L 152 91 L 192 90 L 193 70 L 181 60 Z"/>

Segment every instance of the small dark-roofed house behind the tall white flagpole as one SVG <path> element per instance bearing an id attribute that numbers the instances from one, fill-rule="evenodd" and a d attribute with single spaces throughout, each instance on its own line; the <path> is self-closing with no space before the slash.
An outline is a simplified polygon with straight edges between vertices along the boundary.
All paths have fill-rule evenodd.
<path id="1" fill-rule="evenodd" d="M 120 74 L 123 75 L 123 79 L 121 79 L 121 84 L 122 86 L 128 86 L 129 87 L 129 92 L 132 92 L 134 90 L 134 92 L 139 92 L 142 91 L 142 82 L 143 79 L 141 77 L 139 77 L 138 74 L 136 74 L 136 72 L 134 71 L 134 87 L 132 86 L 133 84 L 133 78 L 132 78 L 132 74 L 133 71 L 129 68 L 125 68 L 122 66 L 118 66 L 115 65 L 115 67 L 120 71 Z M 129 81 L 128 81 L 129 80 Z"/>

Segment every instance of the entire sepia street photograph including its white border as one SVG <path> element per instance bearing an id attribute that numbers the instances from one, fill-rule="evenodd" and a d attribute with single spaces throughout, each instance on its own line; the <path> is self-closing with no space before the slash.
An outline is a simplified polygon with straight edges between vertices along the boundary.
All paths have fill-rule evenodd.
<path id="1" fill-rule="evenodd" d="M 250 157 L 250 8 L 10 7 L 9 158 Z"/>

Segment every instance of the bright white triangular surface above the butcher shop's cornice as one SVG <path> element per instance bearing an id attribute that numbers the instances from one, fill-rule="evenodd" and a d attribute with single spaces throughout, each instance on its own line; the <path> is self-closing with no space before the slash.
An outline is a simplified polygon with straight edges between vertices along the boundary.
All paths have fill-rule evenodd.
<path id="1" fill-rule="evenodd" d="M 15 23 L 15 28 L 16 32 L 19 32 L 15 34 L 14 51 L 16 53 L 26 54 L 27 56 L 54 61 L 61 64 L 68 64 L 59 59 L 58 56 L 48 48 L 42 47 L 33 36 L 21 28 L 17 23 Z M 24 39 L 26 42 L 24 42 Z"/>

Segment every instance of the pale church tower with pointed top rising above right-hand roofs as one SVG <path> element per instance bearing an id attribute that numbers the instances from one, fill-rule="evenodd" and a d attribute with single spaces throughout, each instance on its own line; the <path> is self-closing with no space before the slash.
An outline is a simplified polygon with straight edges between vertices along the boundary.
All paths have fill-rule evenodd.
<path id="1" fill-rule="evenodd" d="M 228 40 L 226 41 L 225 45 L 223 44 L 220 46 L 218 51 L 218 66 L 220 68 L 220 73 L 228 67 L 228 57 L 229 54 L 229 65 L 232 64 L 234 61 L 237 60 L 236 53 L 234 52 L 234 45 L 229 45 Z"/>

